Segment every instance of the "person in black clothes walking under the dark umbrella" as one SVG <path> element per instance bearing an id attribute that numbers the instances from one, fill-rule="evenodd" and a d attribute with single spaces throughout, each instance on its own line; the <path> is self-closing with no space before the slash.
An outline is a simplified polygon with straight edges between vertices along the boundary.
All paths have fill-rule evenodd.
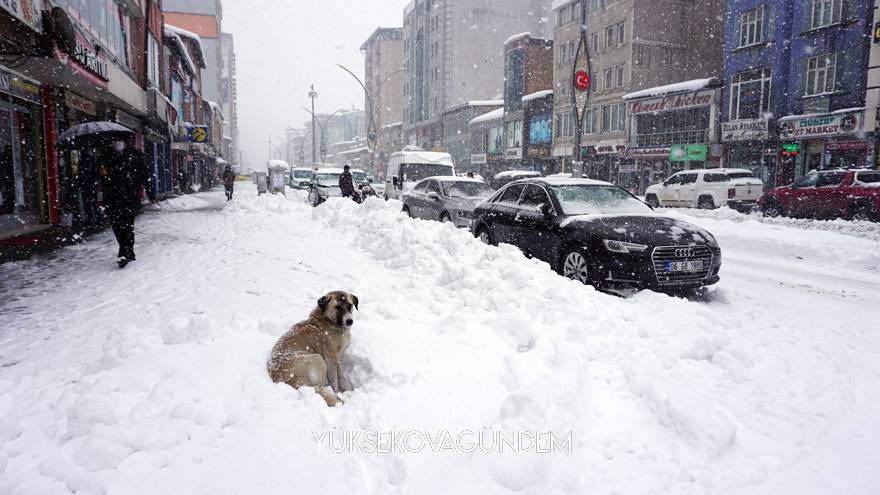
<path id="1" fill-rule="evenodd" d="M 119 268 L 135 260 L 134 218 L 140 210 L 141 187 L 156 201 L 144 155 L 129 143 L 117 141 L 98 165 L 104 191 L 104 210 L 119 243 Z"/>

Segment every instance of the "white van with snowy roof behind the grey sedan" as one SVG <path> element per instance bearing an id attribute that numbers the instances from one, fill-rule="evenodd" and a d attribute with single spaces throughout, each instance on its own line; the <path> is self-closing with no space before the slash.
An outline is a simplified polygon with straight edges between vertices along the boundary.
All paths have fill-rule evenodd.
<path id="1" fill-rule="evenodd" d="M 407 147 L 391 154 L 385 178 L 385 199 L 401 199 L 403 193 L 427 177 L 455 176 L 452 155 Z"/>

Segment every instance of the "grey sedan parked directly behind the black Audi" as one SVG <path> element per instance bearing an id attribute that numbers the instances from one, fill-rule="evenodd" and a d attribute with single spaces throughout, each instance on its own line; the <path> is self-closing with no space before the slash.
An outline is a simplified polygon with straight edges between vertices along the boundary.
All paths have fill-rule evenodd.
<path id="1" fill-rule="evenodd" d="M 430 177 L 403 194 L 403 211 L 413 218 L 470 227 L 474 208 L 493 192 L 488 184 L 476 179 Z"/>

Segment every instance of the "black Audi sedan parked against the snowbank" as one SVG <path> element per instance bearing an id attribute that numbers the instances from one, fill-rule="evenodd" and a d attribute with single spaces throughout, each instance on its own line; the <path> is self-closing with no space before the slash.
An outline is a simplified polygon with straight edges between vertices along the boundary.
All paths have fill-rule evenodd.
<path id="1" fill-rule="evenodd" d="M 720 279 L 721 249 L 712 234 L 657 215 L 607 182 L 513 182 L 477 206 L 472 232 L 487 244 L 512 244 L 561 275 L 601 289 L 678 292 Z"/>

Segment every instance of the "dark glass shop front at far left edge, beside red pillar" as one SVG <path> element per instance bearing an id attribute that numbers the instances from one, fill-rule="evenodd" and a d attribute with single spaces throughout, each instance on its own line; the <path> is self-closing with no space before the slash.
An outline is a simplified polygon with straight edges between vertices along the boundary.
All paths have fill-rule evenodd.
<path id="1" fill-rule="evenodd" d="M 0 66 L 0 239 L 48 223 L 40 91 Z"/>

